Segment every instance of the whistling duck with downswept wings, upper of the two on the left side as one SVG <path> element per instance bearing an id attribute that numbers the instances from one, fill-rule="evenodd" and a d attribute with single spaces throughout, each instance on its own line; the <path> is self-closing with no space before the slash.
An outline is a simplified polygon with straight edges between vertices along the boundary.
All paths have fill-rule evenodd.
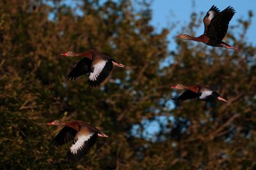
<path id="1" fill-rule="evenodd" d="M 66 52 L 61 53 L 61 55 L 68 57 L 84 57 L 76 64 L 76 67 L 70 71 L 67 79 L 76 80 L 77 77 L 90 73 L 88 83 L 92 87 L 96 87 L 108 77 L 113 65 L 124 67 L 123 64 L 115 62 L 111 57 L 94 50 L 83 53 Z"/>

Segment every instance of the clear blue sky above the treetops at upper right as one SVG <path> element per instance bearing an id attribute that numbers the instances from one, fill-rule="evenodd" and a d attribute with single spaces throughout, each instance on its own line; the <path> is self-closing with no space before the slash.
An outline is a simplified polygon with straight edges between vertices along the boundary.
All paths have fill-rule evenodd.
<path id="1" fill-rule="evenodd" d="M 151 24 L 156 27 L 156 30 L 159 31 L 163 27 L 170 27 L 170 23 L 176 23 L 177 27 L 170 32 L 168 40 L 170 41 L 170 49 L 173 50 L 175 45 L 173 45 L 174 36 L 181 33 L 189 32 L 180 32 L 180 27 L 187 25 L 190 21 L 190 15 L 193 11 L 200 14 L 201 12 L 205 13 L 211 8 L 212 5 L 217 6 L 221 11 L 227 8 L 227 6 L 232 6 L 236 10 L 236 14 L 230 21 L 230 25 L 236 25 L 237 19 L 239 18 L 248 18 L 248 11 L 252 10 L 254 15 L 256 15 L 256 1 L 255 0 L 155 0 L 152 1 L 152 22 Z M 236 31 L 236 30 L 234 30 Z M 240 30 L 239 30 L 240 31 Z M 252 42 L 253 45 L 256 45 L 256 17 L 253 17 L 252 25 L 248 30 L 248 41 Z M 202 25 L 196 35 L 200 36 L 204 32 L 204 24 Z M 249 36 L 250 35 L 250 36 Z"/>

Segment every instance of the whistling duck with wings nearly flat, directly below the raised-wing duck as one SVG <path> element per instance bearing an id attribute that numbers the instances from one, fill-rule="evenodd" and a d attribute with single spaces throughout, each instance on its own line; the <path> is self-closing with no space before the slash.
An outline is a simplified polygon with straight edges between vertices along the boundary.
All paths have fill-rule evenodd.
<path id="1" fill-rule="evenodd" d="M 173 89 L 185 89 L 186 91 L 182 93 L 177 99 L 178 101 L 185 101 L 187 99 L 198 98 L 203 101 L 212 101 L 213 99 L 218 99 L 223 102 L 228 102 L 226 99 L 220 96 L 217 92 L 214 92 L 207 87 L 202 85 L 193 85 L 193 86 L 185 86 L 181 84 L 177 84 L 172 87 Z"/>

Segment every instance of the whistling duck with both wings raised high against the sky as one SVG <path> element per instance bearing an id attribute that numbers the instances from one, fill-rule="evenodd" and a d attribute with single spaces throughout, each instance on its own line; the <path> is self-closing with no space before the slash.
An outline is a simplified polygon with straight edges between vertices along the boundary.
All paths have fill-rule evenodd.
<path id="1" fill-rule="evenodd" d="M 236 47 L 230 46 L 222 41 L 222 39 L 227 34 L 228 24 L 235 13 L 236 11 L 234 8 L 230 6 L 220 12 L 220 10 L 213 5 L 211 9 L 206 13 L 203 20 L 204 34 L 198 37 L 181 34 L 177 37 L 186 40 L 200 41 L 210 46 L 221 46 L 233 50 L 238 50 Z"/>

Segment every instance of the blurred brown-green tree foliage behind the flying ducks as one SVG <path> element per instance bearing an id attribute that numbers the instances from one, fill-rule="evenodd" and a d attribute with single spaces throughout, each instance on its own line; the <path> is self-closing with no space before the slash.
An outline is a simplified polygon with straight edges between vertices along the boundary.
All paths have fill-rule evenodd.
<path id="1" fill-rule="evenodd" d="M 256 48 L 245 39 L 252 11 L 225 38 L 239 52 L 180 40 L 170 51 L 170 30 L 150 25 L 150 1 L 136 3 L 0 1 L 0 169 L 256 168 Z M 192 13 L 183 31 L 195 33 L 202 17 Z M 98 88 L 86 76 L 67 81 L 79 59 L 60 53 L 91 49 L 125 69 Z M 176 83 L 207 85 L 228 103 L 173 103 Z M 55 119 L 83 120 L 109 138 L 72 164 L 70 145 L 50 145 Z M 149 122 L 159 124 L 151 135 Z"/>

